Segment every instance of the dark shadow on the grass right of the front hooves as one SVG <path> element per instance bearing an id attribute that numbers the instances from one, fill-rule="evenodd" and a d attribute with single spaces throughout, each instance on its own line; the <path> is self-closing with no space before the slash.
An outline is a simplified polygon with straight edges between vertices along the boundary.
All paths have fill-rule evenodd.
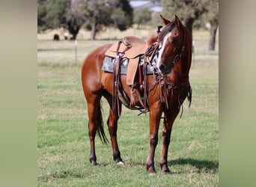
<path id="1" fill-rule="evenodd" d="M 209 160 L 197 159 L 176 159 L 168 162 L 169 166 L 172 165 L 192 165 L 198 169 L 198 173 L 211 173 L 216 174 L 219 171 L 219 162 Z M 183 171 L 174 172 L 174 174 L 184 173 Z"/>

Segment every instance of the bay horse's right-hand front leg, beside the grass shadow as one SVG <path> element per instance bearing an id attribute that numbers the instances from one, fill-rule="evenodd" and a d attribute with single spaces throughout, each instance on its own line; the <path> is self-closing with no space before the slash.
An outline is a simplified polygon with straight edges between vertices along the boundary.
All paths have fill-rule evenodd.
<path id="1" fill-rule="evenodd" d="M 163 173 L 170 174 L 171 171 L 168 168 L 168 147 L 171 141 L 171 129 L 175 118 L 177 117 L 178 111 L 176 112 L 165 112 L 165 119 L 163 122 L 162 130 L 162 151 L 160 156 L 160 168 Z"/>

